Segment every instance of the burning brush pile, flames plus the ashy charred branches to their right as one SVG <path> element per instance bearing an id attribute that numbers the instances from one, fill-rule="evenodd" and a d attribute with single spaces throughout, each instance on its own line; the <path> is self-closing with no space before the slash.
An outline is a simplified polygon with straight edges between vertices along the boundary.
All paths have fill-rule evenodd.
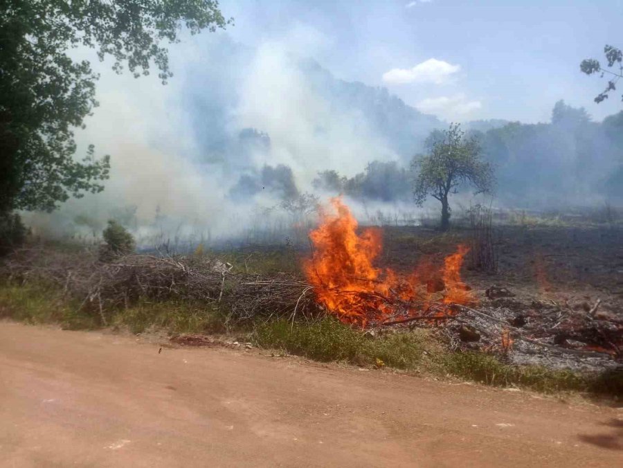
<path id="1" fill-rule="evenodd" d="M 597 316 L 599 303 L 579 313 L 553 301 L 524 304 L 491 287 L 479 304 L 460 277 L 469 250 L 462 245 L 437 269 L 424 263 L 408 276 L 379 269 L 380 231 L 358 234 L 347 206 L 340 199 L 332 205 L 334 213 L 321 211 L 310 233 L 304 267 L 318 303 L 341 321 L 372 330 L 437 325 L 455 350 L 498 352 L 514 363 L 590 369 L 623 359 L 623 319 Z"/>

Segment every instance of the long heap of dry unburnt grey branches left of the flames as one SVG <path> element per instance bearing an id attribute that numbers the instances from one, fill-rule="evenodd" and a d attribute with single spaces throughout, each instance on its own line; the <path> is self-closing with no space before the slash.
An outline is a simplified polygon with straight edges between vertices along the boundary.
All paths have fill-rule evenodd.
<path id="1" fill-rule="evenodd" d="M 258 316 L 310 316 L 320 311 L 300 279 L 234 271 L 204 255 L 132 254 L 102 262 L 96 251 L 21 249 L 0 265 L 0 276 L 21 284 L 52 285 L 107 325 L 112 312 L 138 300 L 187 300 L 219 307 L 230 321 Z"/>

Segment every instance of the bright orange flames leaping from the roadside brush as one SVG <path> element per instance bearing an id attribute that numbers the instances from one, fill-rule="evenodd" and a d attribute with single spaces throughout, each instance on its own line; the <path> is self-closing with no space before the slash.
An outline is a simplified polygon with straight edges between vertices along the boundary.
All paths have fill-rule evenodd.
<path id="1" fill-rule="evenodd" d="M 400 313 L 415 316 L 427 309 L 434 291 L 427 290 L 426 283 L 431 278 L 422 278 L 422 272 L 430 271 L 430 267 L 424 264 L 407 277 L 389 268 L 374 267 L 383 248 L 379 228 L 358 234 L 358 223 L 341 199 L 333 198 L 331 204 L 334 213 L 320 210 L 320 225 L 309 234 L 314 250 L 303 265 L 318 303 L 342 321 L 361 325 Z M 460 278 L 468 251 L 459 246 L 437 271 L 445 287 L 444 304 L 473 301 Z"/>

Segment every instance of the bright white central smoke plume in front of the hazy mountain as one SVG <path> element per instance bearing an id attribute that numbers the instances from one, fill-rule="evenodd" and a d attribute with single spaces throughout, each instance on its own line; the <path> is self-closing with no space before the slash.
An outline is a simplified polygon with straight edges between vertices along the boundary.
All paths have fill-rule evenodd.
<path id="1" fill-rule="evenodd" d="M 256 164 L 288 165 L 308 188 L 319 168 L 352 175 L 374 159 L 397 159 L 356 109 L 336 107 L 314 89 L 298 66 L 299 57 L 281 42 L 258 47 L 235 109 L 241 127 L 261 129 L 271 137 L 269 155 Z M 261 160 L 264 159 L 264 160 Z"/>

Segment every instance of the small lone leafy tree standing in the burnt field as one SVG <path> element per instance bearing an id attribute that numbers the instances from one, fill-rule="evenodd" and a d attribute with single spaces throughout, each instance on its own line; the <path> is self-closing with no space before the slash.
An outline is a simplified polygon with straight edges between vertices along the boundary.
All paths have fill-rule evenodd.
<path id="1" fill-rule="evenodd" d="M 457 193 L 462 184 L 471 184 L 476 193 L 490 192 L 494 185 L 493 168 L 480 159 L 480 145 L 474 138 L 465 138 L 460 124 L 451 124 L 443 132 L 433 136 L 431 150 L 426 156 L 413 160 L 416 172 L 413 185 L 415 202 L 422 206 L 426 197 L 437 199 L 442 204 L 441 230 L 450 225 L 448 196 Z"/>

